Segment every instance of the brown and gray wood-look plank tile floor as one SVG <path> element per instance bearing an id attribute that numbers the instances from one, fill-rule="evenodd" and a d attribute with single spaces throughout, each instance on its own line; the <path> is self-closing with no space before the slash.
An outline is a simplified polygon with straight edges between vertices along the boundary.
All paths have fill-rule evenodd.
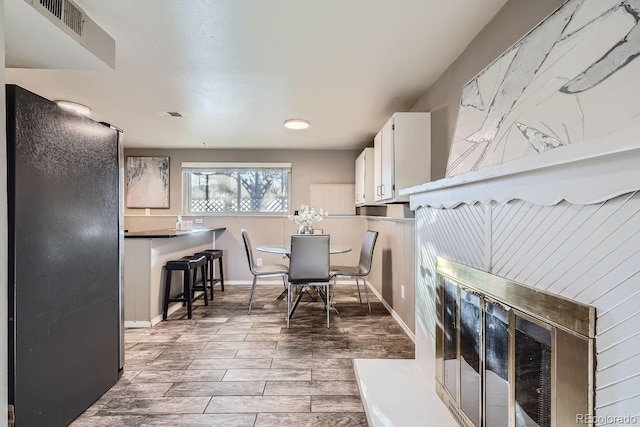
<path id="1" fill-rule="evenodd" d="M 305 296 L 290 329 L 282 286 L 216 286 L 215 301 L 125 332 L 124 374 L 71 425 L 366 426 L 353 359 L 413 359 L 414 345 L 370 294 L 338 285 L 339 313 Z M 363 295 L 364 300 L 364 295 Z"/>

